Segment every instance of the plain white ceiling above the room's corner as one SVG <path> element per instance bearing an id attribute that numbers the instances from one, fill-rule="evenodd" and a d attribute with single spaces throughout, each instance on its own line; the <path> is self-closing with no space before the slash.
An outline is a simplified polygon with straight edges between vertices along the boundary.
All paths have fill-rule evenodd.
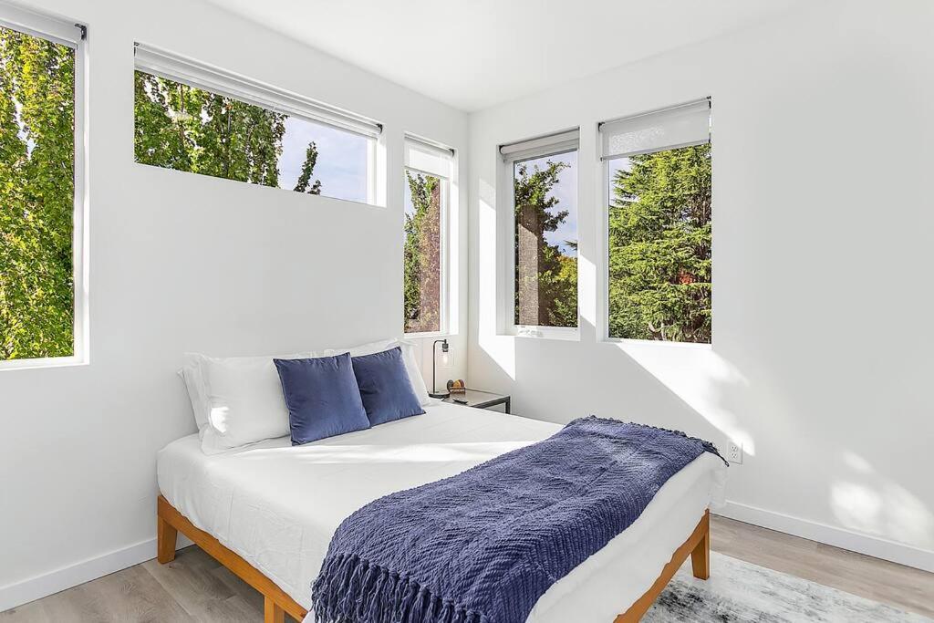
<path id="1" fill-rule="evenodd" d="M 766 21 L 804 0 L 209 0 L 474 111 Z"/>

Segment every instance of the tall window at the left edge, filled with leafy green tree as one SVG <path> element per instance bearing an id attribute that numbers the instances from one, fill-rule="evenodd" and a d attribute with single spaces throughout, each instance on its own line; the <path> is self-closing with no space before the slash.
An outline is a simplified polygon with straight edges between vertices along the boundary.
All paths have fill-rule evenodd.
<path id="1" fill-rule="evenodd" d="M 2 367 L 83 358 L 82 32 L 0 6 Z"/>

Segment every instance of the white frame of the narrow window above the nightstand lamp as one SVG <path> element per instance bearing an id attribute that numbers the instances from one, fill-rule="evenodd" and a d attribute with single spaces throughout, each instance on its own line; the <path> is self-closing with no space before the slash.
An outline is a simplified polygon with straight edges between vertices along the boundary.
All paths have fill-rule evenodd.
<path id="1" fill-rule="evenodd" d="M 449 155 L 447 156 L 447 175 L 439 175 L 438 173 L 432 173 L 430 171 L 425 171 L 419 169 L 415 166 L 409 166 L 406 164 L 406 159 L 403 158 L 403 176 L 408 172 L 413 172 L 423 176 L 436 177 L 441 180 L 441 205 L 439 206 L 439 219 L 438 227 L 441 228 L 441 233 L 438 238 L 440 241 L 440 248 L 438 252 L 441 255 L 441 260 L 439 262 L 439 270 L 441 271 L 441 276 L 439 278 L 438 290 L 439 290 L 439 314 L 438 314 L 438 331 L 420 331 L 414 333 L 405 332 L 405 322 L 403 318 L 403 337 L 405 338 L 421 338 L 421 337 L 440 337 L 445 335 L 450 335 L 450 308 L 451 308 L 451 279 L 450 279 L 450 250 L 451 250 L 451 228 L 450 228 L 450 218 L 451 218 L 451 193 L 452 189 L 455 187 L 454 179 L 457 172 L 457 151 L 453 148 L 446 147 L 440 143 L 429 140 L 427 138 L 422 138 L 416 135 L 406 134 L 403 139 L 403 149 L 407 149 L 409 142 L 418 143 L 423 146 L 427 146 L 432 149 L 437 149 L 439 151 L 447 151 Z M 403 177 L 403 184 L 407 184 L 407 177 Z M 405 222 L 405 187 L 403 186 L 403 224 Z M 404 237 L 403 237 L 403 246 L 404 246 Z M 404 278 L 403 275 L 403 290 L 404 290 Z M 403 295 L 403 311 L 404 311 L 404 295 Z"/>

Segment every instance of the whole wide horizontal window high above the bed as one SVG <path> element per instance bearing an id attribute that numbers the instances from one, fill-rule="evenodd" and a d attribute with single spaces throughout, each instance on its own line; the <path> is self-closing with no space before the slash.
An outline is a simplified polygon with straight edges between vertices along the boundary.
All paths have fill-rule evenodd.
<path id="1" fill-rule="evenodd" d="M 379 131 L 373 121 L 136 46 L 137 163 L 372 204 Z"/>

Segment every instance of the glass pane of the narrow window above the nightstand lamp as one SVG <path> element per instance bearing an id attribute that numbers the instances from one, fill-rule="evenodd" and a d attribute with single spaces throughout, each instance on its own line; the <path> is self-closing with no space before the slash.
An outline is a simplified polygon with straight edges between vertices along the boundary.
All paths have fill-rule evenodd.
<path id="1" fill-rule="evenodd" d="M 405 333 L 441 331 L 441 217 L 446 180 L 405 171 Z"/>

